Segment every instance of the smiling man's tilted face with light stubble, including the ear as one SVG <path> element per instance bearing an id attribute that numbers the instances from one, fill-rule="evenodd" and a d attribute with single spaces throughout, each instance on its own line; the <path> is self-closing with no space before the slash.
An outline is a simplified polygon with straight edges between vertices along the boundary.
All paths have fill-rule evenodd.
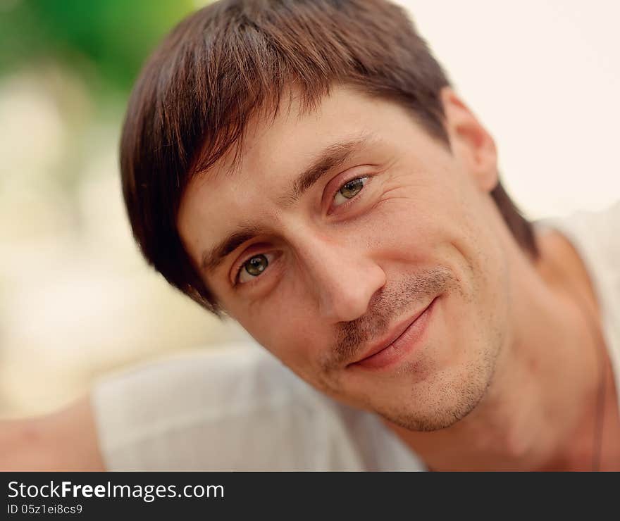
<path id="1" fill-rule="evenodd" d="M 198 266 L 256 228 L 202 268 L 228 315 L 314 387 L 415 430 L 476 406 L 508 329 L 495 156 L 444 94 L 452 153 L 402 106 L 337 87 L 250 122 L 242 161 L 194 178 L 178 215 Z"/>

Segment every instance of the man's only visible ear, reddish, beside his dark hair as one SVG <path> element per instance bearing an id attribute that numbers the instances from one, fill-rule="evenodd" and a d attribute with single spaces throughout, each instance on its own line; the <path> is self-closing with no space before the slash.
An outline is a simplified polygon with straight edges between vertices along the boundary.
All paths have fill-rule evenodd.
<path id="1" fill-rule="evenodd" d="M 491 192 L 499 181 L 493 138 L 451 87 L 442 89 L 441 99 L 454 156 L 481 190 Z"/>

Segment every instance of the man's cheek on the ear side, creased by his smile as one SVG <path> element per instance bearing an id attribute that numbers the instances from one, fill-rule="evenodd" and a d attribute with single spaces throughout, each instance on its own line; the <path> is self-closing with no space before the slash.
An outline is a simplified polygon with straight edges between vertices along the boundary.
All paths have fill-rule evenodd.
<path id="1" fill-rule="evenodd" d="M 492 225 L 497 217 L 488 211 L 489 196 L 458 171 L 438 173 L 434 182 L 430 175 L 414 182 L 393 190 L 377 208 L 372 241 L 385 268 L 442 265 L 457 280 L 455 297 L 461 307 L 475 303 L 477 312 L 484 313 L 498 305 L 506 261 Z M 397 263 L 401 265 L 395 267 Z"/>

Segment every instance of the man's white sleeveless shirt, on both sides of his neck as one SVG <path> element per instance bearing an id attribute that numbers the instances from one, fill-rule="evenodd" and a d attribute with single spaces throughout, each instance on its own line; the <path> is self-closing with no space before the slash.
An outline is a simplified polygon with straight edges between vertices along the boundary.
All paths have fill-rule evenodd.
<path id="1" fill-rule="evenodd" d="M 580 253 L 620 389 L 620 202 L 535 225 Z M 251 341 L 111 375 L 92 404 L 109 470 L 425 469 L 377 415 L 324 396 Z"/>

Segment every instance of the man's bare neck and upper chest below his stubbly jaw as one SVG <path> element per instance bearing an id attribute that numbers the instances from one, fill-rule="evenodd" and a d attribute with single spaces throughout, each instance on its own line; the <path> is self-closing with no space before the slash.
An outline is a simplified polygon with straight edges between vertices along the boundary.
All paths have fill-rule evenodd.
<path id="1" fill-rule="evenodd" d="M 601 385 L 608 425 L 620 432 L 588 273 L 561 234 L 539 231 L 537 241 L 535 264 L 514 252 L 512 332 L 481 403 L 440 431 L 387 422 L 433 470 L 592 470 Z"/>

